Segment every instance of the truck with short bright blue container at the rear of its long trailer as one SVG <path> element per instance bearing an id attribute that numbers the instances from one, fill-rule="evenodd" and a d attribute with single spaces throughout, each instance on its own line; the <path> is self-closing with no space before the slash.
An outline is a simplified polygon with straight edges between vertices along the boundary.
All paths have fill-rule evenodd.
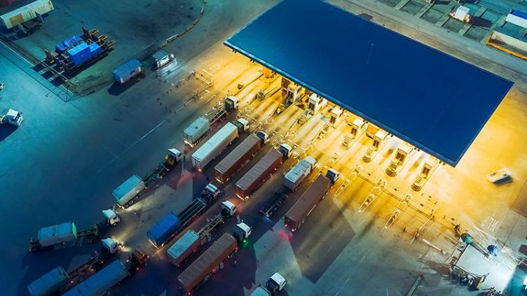
<path id="1" fill-rule="evenodd" d="M 181 213 L 167 213 L 156 225 L 146 232 L 146 236 L 153 246 L 160 248 L 174 237 L 177 230 L 186 226 L 192 218 L 205 211 L 207 206 L 219 195 L 219 190 L 212 183 L 209 183 L 201 192 L 201 196 L 194 199 Z"/>

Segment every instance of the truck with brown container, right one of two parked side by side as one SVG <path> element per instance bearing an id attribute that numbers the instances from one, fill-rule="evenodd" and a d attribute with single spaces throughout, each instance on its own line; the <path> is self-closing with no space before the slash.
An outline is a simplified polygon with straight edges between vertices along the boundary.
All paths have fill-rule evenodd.
<path id="1" fill-rule="evenodd" d="M 282 165 L 285 158 L 291 154 L 291 146 L 283 143 L 280 144 L 278 150 L 271 149 L 269 152 L 257 162 L 247 173 L 236 182 L 235 194 L 243 200 L 249 197 L 260 188 L 278 167 Z"/>

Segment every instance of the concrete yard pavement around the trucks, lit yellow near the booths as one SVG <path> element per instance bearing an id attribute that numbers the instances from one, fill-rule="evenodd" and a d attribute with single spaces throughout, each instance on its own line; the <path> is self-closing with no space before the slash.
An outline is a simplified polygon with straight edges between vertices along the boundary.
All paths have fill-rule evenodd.
<path id="1" fill-rule="evenodd" d="M 439 27 L 427 27 L 422 20 L 408 20 L 404 12 L 388 6 L 368 3 L 373 5 L 373 12 L 360 1 L 336 1 L 516 82 L 458 167 L 440 167 L 425 188 L 415 193 L 409 184 L 423 155 L 413 155 L 397 177 L 391 179 L 385 174 L 399 145 L 397 139 L 386 143 L 374 160 L 365 164 L 362 155 L 371 140 L 362 136 L 350 149 L 342 150 L 340 143 L 350 131 L 343 122 L 319 140 L 317 134 L 327 121 L 322 116 L 298 125 L 295 122 L 302 110 L 297 106 L 268 118 L 280 104 L 279 93 L 261 102 L 252 101 L 258 90 L 270 90 L 279 81 L 262 77 L 259 66 L 234 55 L 221 42 L 273 3 L 266 3 L 266 7 L 245 6 L 242 1 L 212 3 L 214 13 L 207 10 L 203 18 L 207 21 L 200 22 L 203 27 L 196 27 L 170 45 L 177 48 L 174 52 L 179 52 L 182 60 L 175 71 L 161 78 L 149 71 L 121 94 L 112 94 L 105 87 L 69 103 L 55 96 L 50 91 L 53 86 L 45 80 L 29 76 L 20 57 L 0 47 L 0 69 L 8 69 L 10 74 L 0 78 L 6 80 L 0 104 L 20 109 L 26 120 L 18 130 L 2 130 L 0 142 L 0 192 L 8 192 L 0 210 L 5 219 L 0 226 L 4 233 L 0 241 L 4 250 L 0 281 L 6 295 L 27 295 L 26 286 L 34 279 L 57 265 L 74 267 L 98 248 L 97 244 L 83 244 L 48 253 L 27 253 L 27 238 L 34 237 L 39 227 L 74 221 L 84 229 L 100 220 L 100 210 L 112 205 L 111 190 L 130 174 L 148 173 L 162 160 L 166 148 L 183 149 L 182 129 L 227 93 L 242 99 L 238 115 L 249 119 L 251 131 L 275 132 L 271 143 L 287 141 L 298 144 L 298 148 L 248 202 L 233 198 L 234 183 L 271 146 L 259 152 L 231 183 L 221 186 L 221 199 L 238 204 L 240 218 L 254 227 L 254 233 L 249 244 L 235 255 L 237 263 L 227 261 L 198 295 L 247 295 L 275 269 L 288 279 L 282 295 L 406 295 L 419 274 L 424 280 L 417 295 L 476 295 L 451 281 L 448 274 L 458 248 L 453 234 L 455 223 L 461 223 L 463 230 L 479 241 L 498 242 L 514 252 L 521 251 L 526 244 L 526 196 L 522 190 L 527 173 L 522 142 L 526 137 L 521 127 L 527 122 L 525 73 L 519 60 Z M 242 17 L 232 11 L 239 11 Z M 211 29 L 217 29 L 216 33 L 211 34 Z M 99 64 L 106 63 L 103 59 Z M 196 70 L 210 73 L 214 87 L 193 98 L 197 90 L 203 89 L 203 84 L 191 75 Z M 238 84 L 247 86 L 239 91 Z M 327 116 L 327 110 L 323 115 Z M 111 234 L 125 243 L 125 251 L 140 246 L 151 258 L 144 270 L 112 290 L 115 295 L 179 294 L 179 271 L 165 258 L 167 246 L 154 250 L 145 233 L 168 211 L 179 213 L 207 183 L 203 174 L 191 169 L 188 160 L 192 151 L 185 149 L 185 164 L 158 182 L 142 202 L 120 211 L 123 223 Z M 317 158 L 316 172 L 334 167 L 342 177 L 301 229 L 291 234 L 283 227 L 282 216 L 315 174 L 289 195 L 275 218 L 266 220 L 258 210 L 274 192 L 283 190 L 283 174 L 307 154 Z M 355 164 L 362 165 L 359 176 L 353 174 Z M 502 166 L 514 172 L 514 182 L 495 188 L 487 183 L 485 175 Z M 212 179 L 212 169 L 205 174 Z M 388 181 L 385 190 L 360 211 L 367 196 L 376 192 L 374 184 L 381 178 Z M 388 219 L 396 207 L 401 207 L 399 199 L 406 192 L 413 195 L 411 206 L 389 225 Z M 435 211 L 434 220 L 430 220 L 431 209 Z M 198 230 L 218 210 L 215 204 L 190 227 Z M 233 223 L 235 219 L 215 236 L 229 231 Z M 415 239 L 417 230 L 420 237 Z M 200 248 L 198 254 L 205 248 Z M 520 278 L 521 272 L 516 272 L 513 281 L 503 285 L 507 295 L 517 295 Z"/>

